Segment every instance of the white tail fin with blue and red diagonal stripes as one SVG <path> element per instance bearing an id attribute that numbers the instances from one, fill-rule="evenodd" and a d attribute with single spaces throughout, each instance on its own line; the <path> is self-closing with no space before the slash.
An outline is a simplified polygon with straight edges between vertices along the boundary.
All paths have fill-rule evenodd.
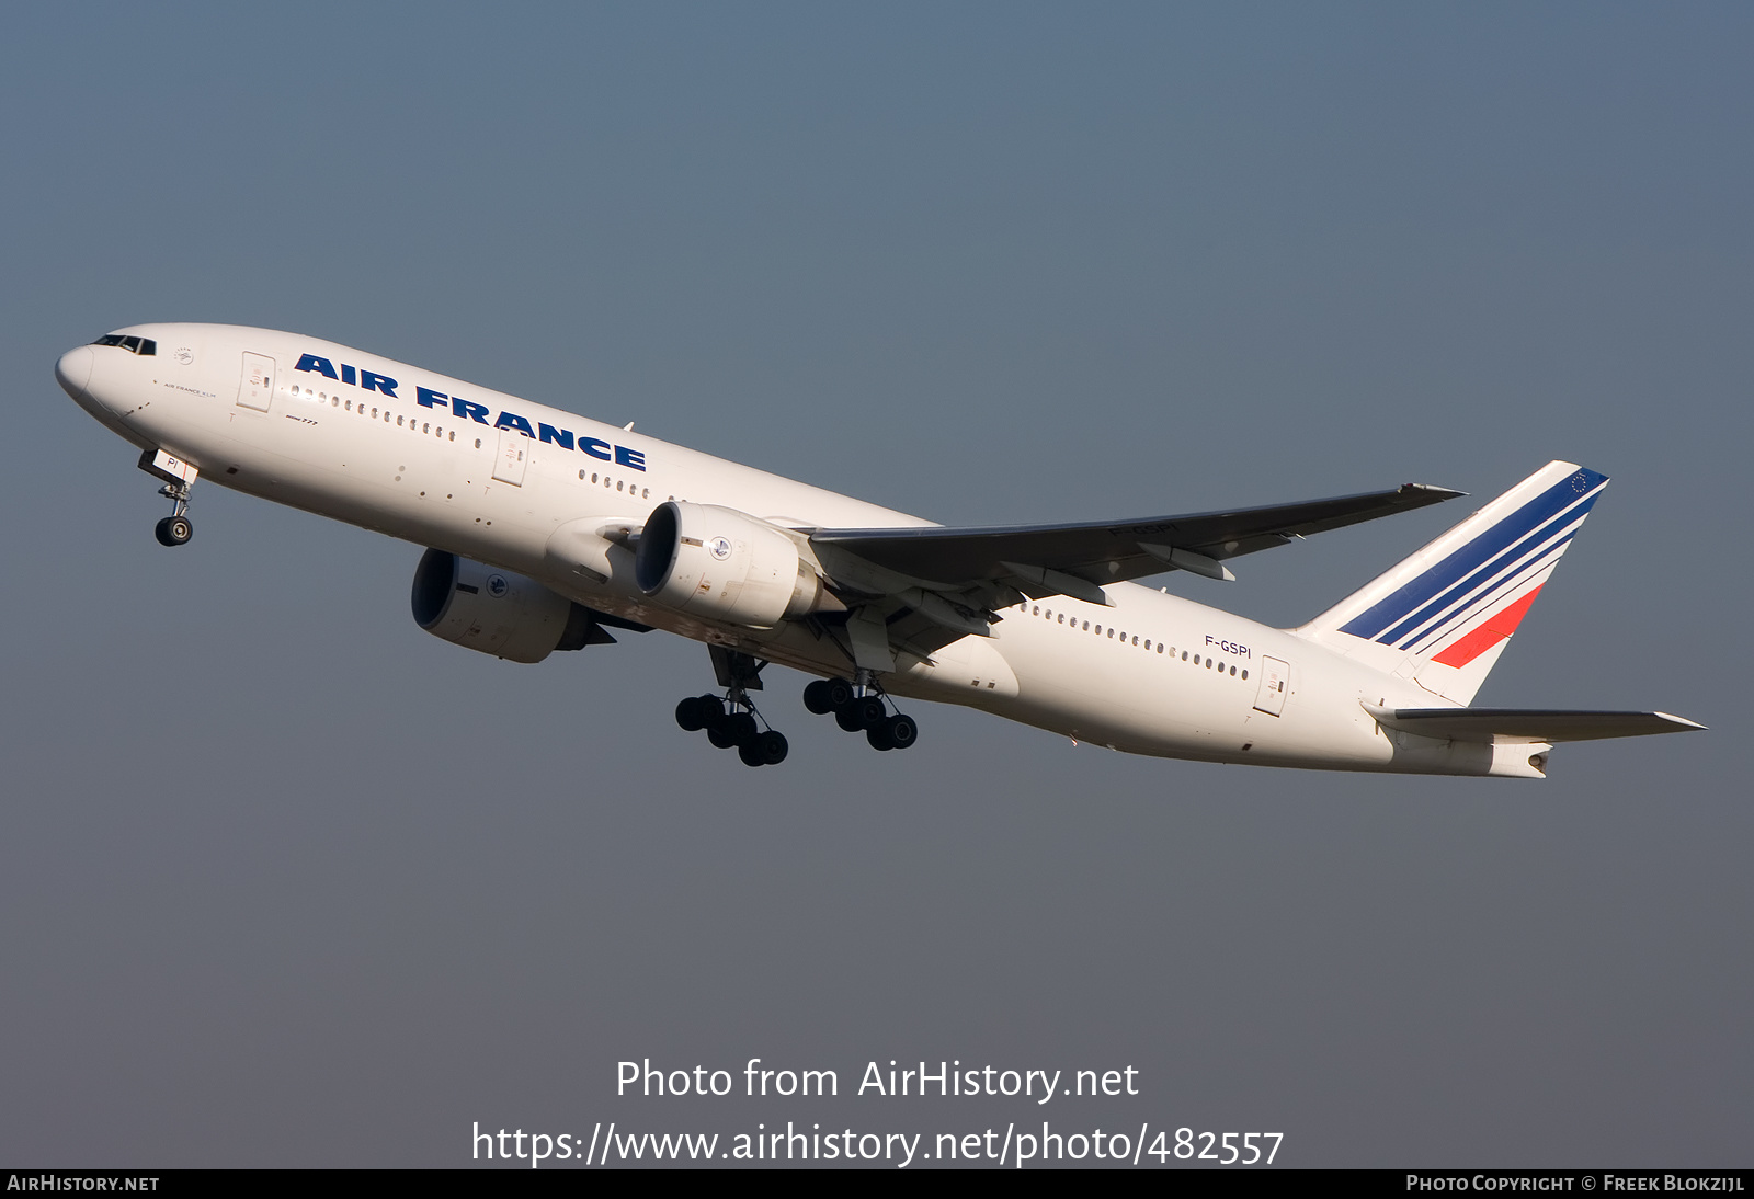
<path id="1" fill-rule="evenodd" d="M 1607 484 L 1547 463 L 1296 631 L 1470 703 Z"/>

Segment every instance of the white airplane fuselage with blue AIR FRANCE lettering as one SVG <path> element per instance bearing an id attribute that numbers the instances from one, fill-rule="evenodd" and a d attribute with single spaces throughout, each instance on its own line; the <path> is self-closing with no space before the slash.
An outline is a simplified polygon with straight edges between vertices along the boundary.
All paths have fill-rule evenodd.
<path id="1" fill-rule="evenodd" d="M 591 608 L 816 675 L 845 675 L 847 659 L 805 624 L 749 629 L 679 615 L 640 592 L 624 549 L 609 549 L 598 582 L 560 568 L 551 536 L 579 521 L 638 528 L 672 498 L 791 528 L 930 524 L 319 338 L 223 324 L 123 333 L 154 338 L 156 354 L 81 347 L 58 373 L 91 415 L 142 449 L 235 491 L 519 571 Z M 516 422 L 496 428 L 507 414 L 533 436 Z M 521 470 L 502 461 L 502 438 L 526 451 Z M 1361 706 L 1433 706 L 1408 680 L 1149 587 L 1103 591 L 1112 607 L 1052 596 L 1005 608 L 996 636 L 965 636 L 884 685 L 1133 754 L 1491 770 L 1489 747 L 1389 733 Z"/>

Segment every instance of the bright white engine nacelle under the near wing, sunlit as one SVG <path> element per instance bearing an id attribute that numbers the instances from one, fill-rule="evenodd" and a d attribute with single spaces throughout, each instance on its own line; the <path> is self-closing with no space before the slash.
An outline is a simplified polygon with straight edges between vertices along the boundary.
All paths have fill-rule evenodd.
<path id="1" fill-rule="evenodd" d="M 633 582 L 675 612 L 770 629 L 823 601 L 816 566 L 777 526 L 735 508 L 661 503 L 640 529 Z"/>

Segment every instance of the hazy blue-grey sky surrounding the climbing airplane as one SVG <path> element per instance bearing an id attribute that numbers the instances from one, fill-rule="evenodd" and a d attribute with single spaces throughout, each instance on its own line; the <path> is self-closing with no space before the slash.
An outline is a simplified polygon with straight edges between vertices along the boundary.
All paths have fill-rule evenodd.
<path id="1" fill-rule="evenodd" d="M 33 5 L 0 42 L 0 1159 L 468 1129 L 1275 1129 L 1287 1164 L 1747 1164 L 1742 5 Z M 1615 479 L 1480 703 L 1714 731 L 1545 784 L 1131 759 L 924 706 L 781 770 L 705 652 L 514 666 L 419 547 L 195 493 L 54 358 L 300 330 L 944 522 Z M 1298 622 L 1468 501 L 1244 559 Z M 633 1101 L 614 1064 L 1137 1066 Z"/>

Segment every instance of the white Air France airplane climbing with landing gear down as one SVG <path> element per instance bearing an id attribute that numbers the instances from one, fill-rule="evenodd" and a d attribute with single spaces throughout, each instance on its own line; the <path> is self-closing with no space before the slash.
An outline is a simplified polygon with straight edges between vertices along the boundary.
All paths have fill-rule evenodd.
<path id="1" fill-rule="evenodd" d="M 665 629 L 716 691 L 677 724 L 784 761 L 770 664 L 875 750 L 898 699 L 1075 743 L 1207 763 L 1544 778 L 1554 745 L 1705 726 L 1663 712 L 1470 706 L 1607 486 L 1552 461 L 1335 607 L 1275 629 L 1135 580 L 1463 493 L 1428 484 L 1259 508 L 944 528 L 335 342 L 135 324 L 54 366 L 140 451 L 184 545 L 198 477 L 426 547 L 412 615 L 514 663 Z"/>

